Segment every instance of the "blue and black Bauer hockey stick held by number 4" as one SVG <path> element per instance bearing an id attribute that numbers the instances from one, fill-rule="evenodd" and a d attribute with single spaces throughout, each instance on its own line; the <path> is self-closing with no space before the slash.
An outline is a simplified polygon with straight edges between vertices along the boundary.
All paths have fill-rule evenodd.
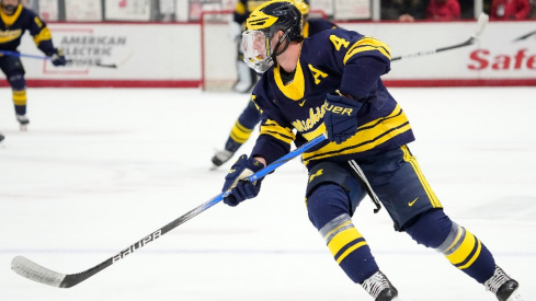
<path id="1" fill-rule="evenodd" d="M 305 143 L 301 146 L 299 149 L 296 149 L 282 158 L 280 158 L 277 161 L 271 163 L 266 167 L 262 169 L 261 171 L 252 174 L 247 178 L 247 181 L 254 182 L 261 177 L 264 177 L 266 174 L 273 172 L 275 169 L 278 166 L 285 164 L 286 162 L 293 160 L 294 158 L 298 157 L 299 154 L 304 153 L 308 149 L 317 146 L 318 143 L 322 142 L 326 140 L 327 137 L 326 135 L 321 135 L 309 142 Z M 43 266 L 39 266 L 38 264 L 23 257 L 23 256 L 16 256 L 13 258 L 11 262 L 11 269 L 14 270 L 16 274 L 21 275 L 22 277 L 25 277 L 30 280 L 48 285 L 52 287 L 57 287 L 57 288 L 70 288 L 73 287 L 83 280 L 90 278 L 91 276 L 98 274 L 99 271 L 105 269 L 106 267 L 115 264 L 116 262 L 125 258 L 127 255 L 134 253 L 136 250 L 147 245 L 148 243 L 155 241 L 156 239 L 159 239 L 163 234 L 168 233 L 170 230 L 176 228 L 178 225 L 189 221 L 190 219 L 194 218 L 195 216 L 199 215 L 201 212 L 207 210 L 208 208 L 213 207 L 214 205 L 218 204 L 220 200 L 223 200 L 225 197 L 230 195 L 230 190 L 227 190 L 225 193 L 221 193 L 217 195 L 216 197 L 212 198 L 210 200 L 202 204 L 201 206 L 196 207 L 195 209 L 189 211 L 187 213 L 183 215 L 182 217 L 173 220 L 172 222 L 166 224 L 164 227 L 158 229 L 157 231 L 150 233 L 149 235 L 142 238 L 141 240 L 135 242 L 127 248 L 121 251 L 116 255 L 107 258 L 106 261 L 102 262 L 101 264 L 87 269 L 82 273 L 78 274 L 61 274 L 57 273 L 54 270 L 50 270 L 48 268 L 45 268 Z"/>

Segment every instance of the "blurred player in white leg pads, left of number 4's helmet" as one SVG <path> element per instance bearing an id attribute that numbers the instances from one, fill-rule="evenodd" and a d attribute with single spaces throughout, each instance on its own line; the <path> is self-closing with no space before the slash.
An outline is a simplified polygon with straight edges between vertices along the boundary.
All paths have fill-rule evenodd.
<path id="1" fill-rule="evenodd" d="M 243 62 L 242 47 L 239 47 L 241 34 L 246 20 L 250 13 L 266 0 L 238 0 L 232 14 L 232 22 L 229 24 L 231 39 L 237 45 L 237 82 L 232 85 L 232 90 L 239 93 L 248 93 L 256 83 L 256 73 Z"/>

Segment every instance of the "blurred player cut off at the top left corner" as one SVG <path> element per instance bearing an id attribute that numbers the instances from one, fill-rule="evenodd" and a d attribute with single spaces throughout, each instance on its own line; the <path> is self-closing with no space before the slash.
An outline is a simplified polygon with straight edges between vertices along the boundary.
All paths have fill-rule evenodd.
<path id="1" fill-rule="evenodd" d="M 37 48 L 46 56 L 52 57 L 54 66 L 65 66 L 66 59 L 61 49 L 53 45 L 50 31 L 34 12 L 24 8 L 20 0 L 0 0 L 0 50 L 18 51 L 21 37 L 25 31 L 34 37 Z M 30 123 L 26 117 L 26 80 L 24 79 L 24 67 L 16 56 L 1 56 L 0 69 L 5 74 L 13 91 L 13 104 L 15 117 L 25 130 Z"/>

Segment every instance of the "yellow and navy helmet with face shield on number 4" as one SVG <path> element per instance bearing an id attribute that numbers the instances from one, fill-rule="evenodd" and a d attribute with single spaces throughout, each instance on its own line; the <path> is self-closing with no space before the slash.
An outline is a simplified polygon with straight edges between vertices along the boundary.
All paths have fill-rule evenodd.
<path id="1" fill-rule="evenodd" d="M 301 13 L 293 1 L 275 0 L 260 5 L 248 18 L 247 31 L 242 33 L 243 60 L 256 72 L 266 71 L 290 42 L 304 39 L 301 27 Z M 274 35 L 280 31 L 283 36 L 272 45 Z M 284 42 L 285 46 L 278 51 Z"/>

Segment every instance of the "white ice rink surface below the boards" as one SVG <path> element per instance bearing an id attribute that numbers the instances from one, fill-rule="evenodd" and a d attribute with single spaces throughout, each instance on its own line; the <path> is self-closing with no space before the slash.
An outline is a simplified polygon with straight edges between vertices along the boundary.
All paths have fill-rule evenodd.
<path id="1" fill-rule="evenodd" d="M 536 300 L 536 88 L 391 89 L 446 212 Z M 10 269 L 73 274 L 220 192 L 209 171 L 248 96 L 196 89 L 28 89 L 28 130 L 0 89 L 0 300 L 370 300 L 310 224 L 299 160 L 258 198 L 218 204 L 69 289 Z M 251 139 L 240 151 L 248 153 Z M 364 200 L 353 220 L 404 301 L 495 298 Z"/>

